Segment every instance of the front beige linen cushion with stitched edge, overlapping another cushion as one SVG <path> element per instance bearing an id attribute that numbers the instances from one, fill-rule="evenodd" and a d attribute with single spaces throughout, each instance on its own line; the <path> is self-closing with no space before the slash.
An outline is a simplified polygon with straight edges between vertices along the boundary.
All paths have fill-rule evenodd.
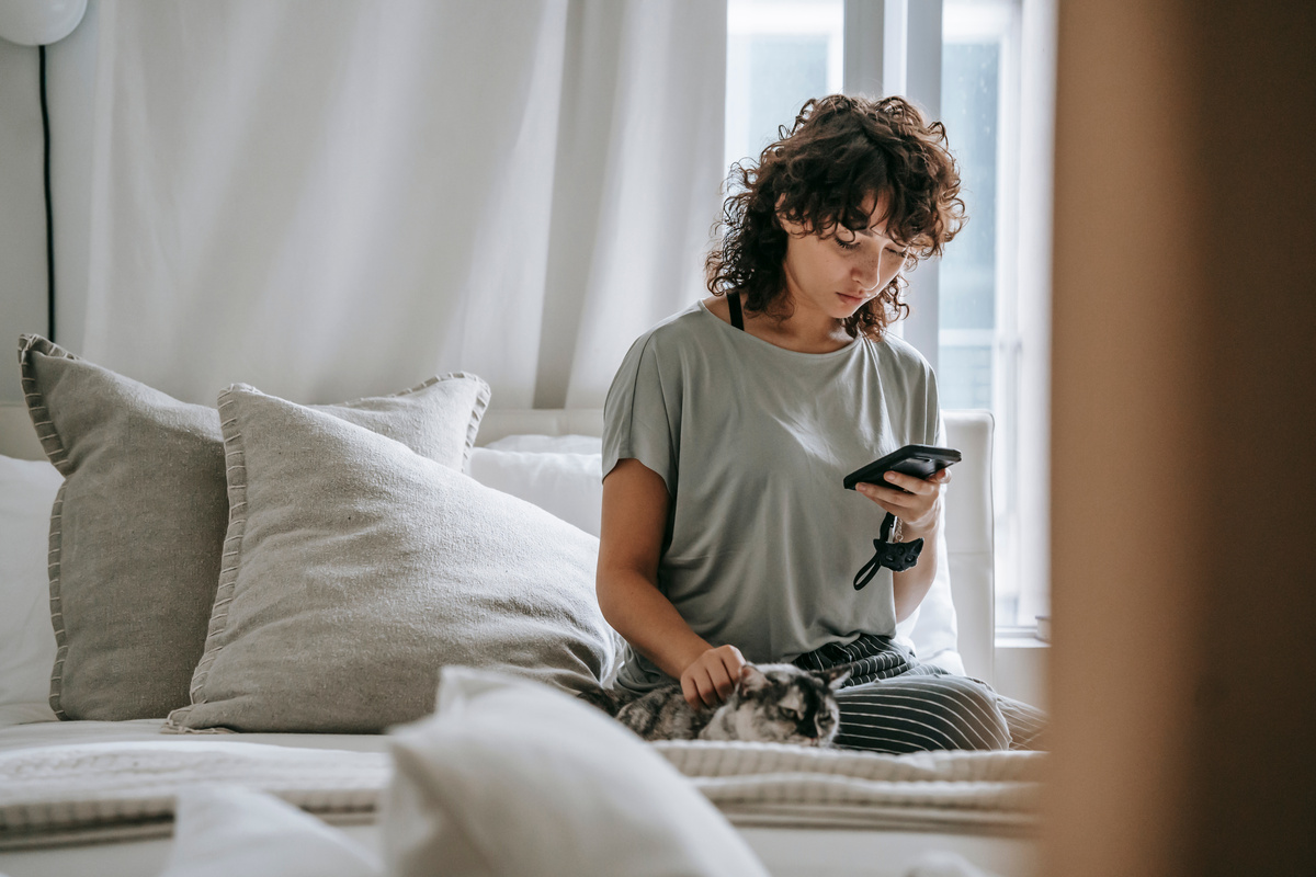
<path id="1" fill-rule="evenodd" d="M 597 684 L 597 539 L 388 438 L 237 385 L 232 517 L 192 705 L 171 730 L 378 732 L 446 664 Z"/>

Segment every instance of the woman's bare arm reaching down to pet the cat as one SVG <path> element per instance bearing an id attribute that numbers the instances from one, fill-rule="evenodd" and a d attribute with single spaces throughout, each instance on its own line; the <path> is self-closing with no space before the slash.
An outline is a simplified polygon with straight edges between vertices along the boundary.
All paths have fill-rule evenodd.
<path id="1" fill-rule="evenodd" d="M 680 680 L 686 699 L 712 706 L 730 694 L 744 659 L 709 646 L 658 590 L 669 502 L 662 476 L 640 460 L 620 460 L 604 479 L 599 607 L 636 651 Z"/>

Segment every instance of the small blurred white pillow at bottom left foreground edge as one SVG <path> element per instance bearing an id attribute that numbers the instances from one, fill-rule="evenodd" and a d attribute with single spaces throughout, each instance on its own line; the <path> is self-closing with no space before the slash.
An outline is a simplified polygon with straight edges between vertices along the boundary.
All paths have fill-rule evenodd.
<path id="1" fill-rule="evenodd" d="M 161 877 L 380 877 L 378 856 L 291 803 L 240 786 L 178 795 Z"/>

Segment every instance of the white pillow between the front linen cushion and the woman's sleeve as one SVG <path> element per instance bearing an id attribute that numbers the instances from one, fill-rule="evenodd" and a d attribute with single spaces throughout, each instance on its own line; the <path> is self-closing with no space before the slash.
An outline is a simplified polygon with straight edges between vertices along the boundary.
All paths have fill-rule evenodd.
<path id="1" fill-rule="evenodd" d="M 601 454 L 478 447 L 467 463 L 470 476 L 484 486 L 537 505 L 594 536 L 603 510 L 601 471 Z"/>

